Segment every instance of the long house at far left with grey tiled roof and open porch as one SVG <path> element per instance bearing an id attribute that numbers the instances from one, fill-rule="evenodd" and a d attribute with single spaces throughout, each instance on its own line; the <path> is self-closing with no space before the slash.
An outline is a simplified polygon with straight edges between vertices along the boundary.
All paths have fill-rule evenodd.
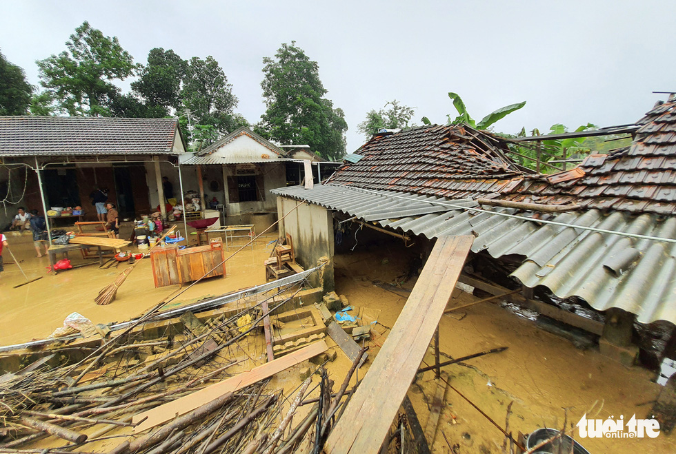
<path id="1" fill-rule="evenodd" d="M 0 198 L 39 211 L 80 205 L 86 220 L 96 220 L 89 195 L 101 187 L 121 216 L 133 218 L 163 199 L 156 174 L 178 185 L 184 154 L 176 118 L 0 116 Z"/>

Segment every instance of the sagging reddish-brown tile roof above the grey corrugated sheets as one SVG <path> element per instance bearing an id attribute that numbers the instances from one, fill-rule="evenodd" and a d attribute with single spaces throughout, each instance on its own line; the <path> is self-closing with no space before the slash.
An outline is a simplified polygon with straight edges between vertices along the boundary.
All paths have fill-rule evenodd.
<path id="1" fill-rule="evenodd" d="M 657 103 L 637 122 L 632 145 L 593 154 L 553 175 L 524 172 L 503 139 L 467 126 L 419 127 L 376 136 L 364 158 L 328 181 L 446 198 L 579 204 L 633 213 L 676 214 L 676 101 Z"/>

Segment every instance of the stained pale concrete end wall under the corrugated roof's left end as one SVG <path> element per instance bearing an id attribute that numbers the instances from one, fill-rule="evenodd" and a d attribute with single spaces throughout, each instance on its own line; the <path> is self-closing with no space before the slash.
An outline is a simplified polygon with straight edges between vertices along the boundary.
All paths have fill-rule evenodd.
<path id="1" fill-rule="evenodd" d="M 288 214 L 298 201 L 279 196 L 277 216 Z M 320 257 L 328 257 L 324 267 L 324 290 L 335 288 L 333 278 L 333 216 L 332 211 L 319 205 L 301 203 L 279 223 L 280 235 L 290 234 L 296 251 L 296 261 L 305 269 L 315 267 Z M 319 285 L 319 276 L 312 276 L 312 285 Z"/>

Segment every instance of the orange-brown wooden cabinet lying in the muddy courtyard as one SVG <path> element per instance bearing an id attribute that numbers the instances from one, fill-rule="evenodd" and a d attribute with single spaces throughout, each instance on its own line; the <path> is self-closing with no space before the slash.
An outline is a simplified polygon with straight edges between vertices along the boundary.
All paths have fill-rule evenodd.
<path id="1" fill-rule="evenodd" d="M 208 245 L 179 249 L 176 245 L 155 247 L 150 251 L 155 287 L 183 285 L 199 278 L 226 277 L 225 251 L 221 238 Z"/>

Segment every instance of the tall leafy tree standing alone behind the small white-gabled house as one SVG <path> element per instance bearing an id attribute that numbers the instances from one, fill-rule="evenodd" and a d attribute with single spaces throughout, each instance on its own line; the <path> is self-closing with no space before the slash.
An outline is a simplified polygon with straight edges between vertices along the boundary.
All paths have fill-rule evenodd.
<path id="1" fill-rule="evenodd" d="M 345 114 L 324 98 L 327 90 L 319 79 L 317 62 L 291 41 L 263 63 L 266 112 L 256 132 L 283 145 L 310 145 L 324 158 L 343 156 L 348 130 Z"/>

